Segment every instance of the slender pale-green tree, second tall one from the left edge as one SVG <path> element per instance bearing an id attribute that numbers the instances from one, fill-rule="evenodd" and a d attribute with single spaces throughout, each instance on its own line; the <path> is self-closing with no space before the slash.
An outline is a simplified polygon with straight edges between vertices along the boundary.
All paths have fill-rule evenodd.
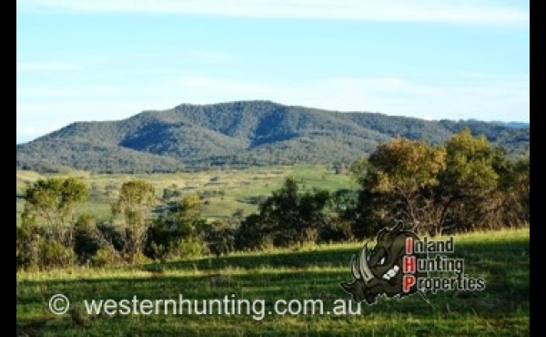
<path id="1" fill-rule="evenodd" d="M 114 214 L 121 214 L 125 220 L 126 252 L 134 260 L 143 252 L 146 242 L 148 215 L 157 202 L 154 187 L 143 180 L 131 180 L 121 186 L 119 196 L 112 205 Z"/>

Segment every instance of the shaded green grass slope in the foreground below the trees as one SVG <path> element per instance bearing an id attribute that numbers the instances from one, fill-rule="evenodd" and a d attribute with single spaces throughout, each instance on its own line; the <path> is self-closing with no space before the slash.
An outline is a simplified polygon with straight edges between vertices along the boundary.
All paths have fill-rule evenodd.
<path id="1" fill-rule="evenodd" d="M 435 238 L 436 239 L 436 238 Z M 20 272 L 16 329 L 21 336 L 528 336 L 530 230 L 455 237 L 465 273 L 484 278 L 483 291 L 444 291 L 404 299 L 380 298 L 359 314 L 268 314 L 277 300 L 321 300 L 333 311 L 349 301 L 349 260 L 361 243 L 308 246 L 221 258 L 178 260 L 101 270 Z M 65 294 L 71 309 L 54 315 L 48 301 Z M 264 300 L 265 316 L 87 315 L 85 300 Z M 165 309 L 165 306 L 163 307 Z M 356 309 L 354 307 L 353 309 Z"/>

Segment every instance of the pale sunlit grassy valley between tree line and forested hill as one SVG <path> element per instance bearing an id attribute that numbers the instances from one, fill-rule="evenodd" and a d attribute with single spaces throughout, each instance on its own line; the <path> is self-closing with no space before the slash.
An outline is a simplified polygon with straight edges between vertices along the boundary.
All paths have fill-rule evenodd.
<path id="1" fill-rule="evenodd" d="M 297 179 L 302 189 L 356 189 L 355 183 L 347 175 L 337 175 L 324 166 L 290 166 L 248 168 L 238 170 L 217 170 L 195 173 L 172 173 L 150 175 L 101 175 L 87 172 L 72 172 L 73 177 L 83 179 L 92 189 L 89 200 L 78 207 L 79 213 L 88 213 L 101 220 L 111 217 L 111 202 L 116 191 L 130 179 L 144 179 L 152 184 L 161 197 L 163 189 L 177 189 L 183 194 L 209 192 L 204 216 L 208 219 L 229 217 L 236 209 L 250 214 L 257 209 L 252 199 L 268 196 L 279 189 L 288 177 Z M 17 170 L 17 223 L 24 208 L 21 195 L 27 182 L 43 178 L 37 173 Z"/>

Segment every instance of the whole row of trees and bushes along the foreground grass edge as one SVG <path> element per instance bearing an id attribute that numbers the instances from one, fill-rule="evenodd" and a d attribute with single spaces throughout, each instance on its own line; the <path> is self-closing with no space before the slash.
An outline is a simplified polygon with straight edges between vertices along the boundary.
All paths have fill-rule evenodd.
<path id="1" fill-rule="evenodd" d="M 394 221 L 431 236 L 528 225 L 530 158 L 509 158 L 468 129 L 440 145 L 392 138 L 351 165 L 358 189 L 302 191 L 288 178 L 256 213 L 235 211 L 212 222 L 201 214 L 198 194 L 157 198 L 144 180 L 119 190 L 112 213 L 120 223 L 76 217 L 76 205 L 89 196 L 86 184 L 41 179 L 25 189 L 17 271 L 364 240 Z"/>

